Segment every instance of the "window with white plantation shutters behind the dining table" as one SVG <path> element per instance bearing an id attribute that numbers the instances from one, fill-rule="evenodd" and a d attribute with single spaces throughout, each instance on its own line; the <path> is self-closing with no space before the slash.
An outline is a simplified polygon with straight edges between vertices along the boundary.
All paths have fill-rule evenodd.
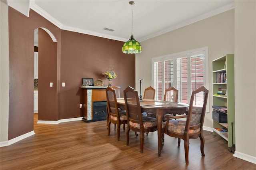
<path id="1" fill-rule="evenodd" d="M 208 47 L 152 58 L 152 71 L 157 100 L 163 100 L 165 89 L 174 86 L 179 90 L 178 102 L 189 103 L 194 89 L 201 85 L 209 89 Z"/>

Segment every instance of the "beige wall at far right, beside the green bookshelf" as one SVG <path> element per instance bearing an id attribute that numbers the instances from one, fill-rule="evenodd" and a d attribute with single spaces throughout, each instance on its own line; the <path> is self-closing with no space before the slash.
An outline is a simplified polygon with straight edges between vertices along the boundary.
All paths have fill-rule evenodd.
<path id="1" fill-rule="evenodd" d="M 236 152 L 256 162 L 256 1 L 235 1 Z M 250 157 L 248 158 L 250 160 Z M 251 158 L 253 159 L 253 158 Z"/>

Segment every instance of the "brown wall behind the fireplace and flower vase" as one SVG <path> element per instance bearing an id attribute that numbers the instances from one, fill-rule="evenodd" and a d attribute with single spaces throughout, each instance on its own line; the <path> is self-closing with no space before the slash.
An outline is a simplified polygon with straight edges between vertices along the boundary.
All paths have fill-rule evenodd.
<path id="1" fill-rule="evenodd" d="M 81 117 L 82 78 L 108 79 L 102 75 L 114 66 L 118 75 L 112 85 L 122 91 L 135 86 L 135 57 L 122 53 L 123 42 L 62 30 L 60 84 L 60 119 Z"/>

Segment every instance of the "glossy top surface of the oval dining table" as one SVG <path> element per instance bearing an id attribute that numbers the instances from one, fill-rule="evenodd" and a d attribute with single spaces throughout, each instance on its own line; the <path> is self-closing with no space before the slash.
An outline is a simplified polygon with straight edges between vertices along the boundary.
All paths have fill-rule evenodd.
<path id="1" fill-rule="evenodd" d="M 119 105 L 125 105 L 124 98 L 117 98 L 117 103 Z M 160 101 L 160 100 L 152 100 L 152 99 L 143 99 L 143 102 L 140 102 L 140 107 L 142 108 L 182 108 L 188 107 L 189 105 L 186 103 L 179 102 L 170 102 L 170 101 Z"/>

